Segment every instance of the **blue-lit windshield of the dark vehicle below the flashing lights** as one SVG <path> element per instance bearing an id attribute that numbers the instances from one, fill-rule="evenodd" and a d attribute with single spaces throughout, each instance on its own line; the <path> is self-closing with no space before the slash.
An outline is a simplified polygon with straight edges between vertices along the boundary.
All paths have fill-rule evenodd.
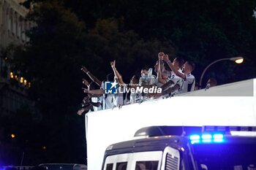
<path id="1" fill-rule="evenodd" d="M 256 142 L 193 144 L 198 169 L 256 170 Z"/>

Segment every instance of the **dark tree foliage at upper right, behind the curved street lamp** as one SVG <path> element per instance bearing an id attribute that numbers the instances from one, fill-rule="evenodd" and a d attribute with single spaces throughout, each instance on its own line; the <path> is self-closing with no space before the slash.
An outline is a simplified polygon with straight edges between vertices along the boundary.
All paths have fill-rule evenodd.
<path id="1" fill-rule="evenodd" d="M 243 66 L 219 63 L 219 68 L 210 69 L 206 77 L 215 74 L 220 84 L 255 77 L 253 0 L 75 0 L 65 4 L 88 21 L 90 28 L 99 18 L 117 18 L 123 20 L 124 29 L 135 31 L 146 41 L 170 42 L 176 55 L 195 61 L 197 79 L 211 61 L 236 55 L 244 55 Z"/>

